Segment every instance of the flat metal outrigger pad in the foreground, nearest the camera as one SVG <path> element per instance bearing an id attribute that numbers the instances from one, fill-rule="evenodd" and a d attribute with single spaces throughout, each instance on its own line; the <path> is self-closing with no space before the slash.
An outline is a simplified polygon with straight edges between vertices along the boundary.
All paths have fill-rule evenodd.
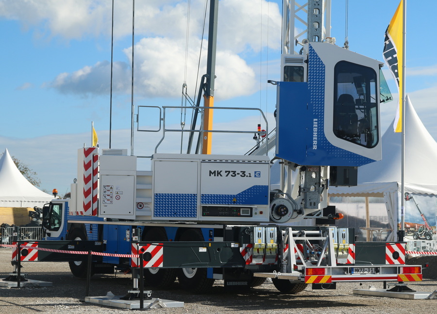
<path id="1" fill-rule="evenodd" d="M 104 297 L 85 297 L 85 302 L 94 303 L 104 306 L 117 307 L 122 309 L 139 309 L 139 300 L 122 300 L 123 296 L 104 296 Z M 151 298 L 150 300 L 144 300 L 144 309 L 154 308 L 171 308 L 171 307 L 184 307 L 184 302 L 172 301 L 160 298 Z"/>

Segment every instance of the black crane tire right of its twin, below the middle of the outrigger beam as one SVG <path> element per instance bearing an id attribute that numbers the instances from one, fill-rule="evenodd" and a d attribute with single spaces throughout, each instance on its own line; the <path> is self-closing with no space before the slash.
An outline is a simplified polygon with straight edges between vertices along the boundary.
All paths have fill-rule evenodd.
<path id="1" fill-rule="evenodd" d="M 200 230 L 188 229 L 181 235 L 179 241 L 203 241 L 203 235 Z M 207 268 L 178 269 L 179 283 L 184 289 L 194 293 L 207 293 L 214 284 L 214 279 L 207 278 L 207 270 Z"/>

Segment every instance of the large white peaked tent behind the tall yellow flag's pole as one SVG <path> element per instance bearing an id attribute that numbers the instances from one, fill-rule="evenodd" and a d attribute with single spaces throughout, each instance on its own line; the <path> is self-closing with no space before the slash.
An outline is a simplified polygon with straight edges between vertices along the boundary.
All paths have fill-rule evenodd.
<path id="1" fill-rule="evenodd" d="M 329 196 L 384 197 L 395 240 L 401 206 L 401 133 L 390 125 L 382 137 L 383 159 L 358 168 L 356 187 L 330 187 Z M 405 99 L 405 192 L 437 195 L 437 143 Z"/>

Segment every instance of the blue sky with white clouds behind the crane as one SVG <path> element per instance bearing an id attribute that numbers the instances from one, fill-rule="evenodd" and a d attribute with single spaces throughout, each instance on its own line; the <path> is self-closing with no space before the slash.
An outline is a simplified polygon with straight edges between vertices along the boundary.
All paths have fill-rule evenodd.
<path id="1" fill-rule="evenodd" d="M 62 195 L 76 177 L 76 151 L 91 144 L 91 122 L 100 147 L 109 146 L 110 0 L 0 0 L 0 151 L 33 169 L 47 191 Z M 305 1 L 303 1 L 305 2 Z M 345 0 L 332 1 L 332 36 L 343 45 Z M 132 2 L 115 0 L 112 147 L 130 151 Z M 188 46 L 186 1 L 136 0 L 134 39 L 135 106 L 180 106 L 184 78 L 195 92 L 204 0 L 191 0 Z M 282 1 L 221 0 L 215 106 L 253 107 L 265 111 L 269 129 L 279 79 Z M 399 0 L 349 1 L 350 49 L 382 61 L 384 31 Z M 408 1 L 406 91 L 423 124 L 437 139 L 437 86 L 434 12 Z M 186 47 L 188 47 L 186 49 Z M 203 50 L 206 42 L 203 43 Z M 185 51 L 186 58 L 185 75 Z M 204 64 L 205 53 L 201 64 Z M 397 90 L 385 67 L 397 100 Z M 201 67 L 200 74 L 205 73 Z M 382 129 L 394 118 L 396 101 L 382 108 Z M 218 111 L 218 110 L 216 110 Z M 136 112 L 136 110 L 135 110 Z M 179 127 L 180 110 L 169 119 Z M 259 115 L 215 113 L 215 126 L 256 129 Z M 144 115 L 143 115 L 144 116 Z M 141 116 L 141 117 L 143 117 Z M 189 114 L 186 123 L 189 123 Z M 145 121 L 145 120 L 141 120 Z M 149 124 L 147 120 L 147 124 Z M 153 123 L 155 126 L 157 124 Z M 135 126 L 136 127 L 136 126 Z M 264 127 L 264 126 L 263 126 Z M 150 155 L 156 134 L 135 133 L 135 155 Z M 215 138 L 216 139 L 216 138 Z M 180 138 L 164 151 L 178 152 Z M 213 153 L 244 154 L 254 141 L 223 137 Z M 161 149 L 161 148 L 160 148 Z M 147 167 L 147 162 L 144 163 Z"/>

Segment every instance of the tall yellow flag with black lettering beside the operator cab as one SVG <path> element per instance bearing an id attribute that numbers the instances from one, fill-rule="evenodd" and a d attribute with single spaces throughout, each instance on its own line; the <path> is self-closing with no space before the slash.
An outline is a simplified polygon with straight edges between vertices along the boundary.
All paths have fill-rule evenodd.
<path id="1" fill-rule="evenodd" d="M 394 16 L 386 30 L 384 42 L 384 61 L 387 63 L 393 77 L 398 83 L 399 106 L 396 110 L 396 118 L 393 124 L 395 132 L 402 132 L 402 76 L 403 76 L 403 1 L 399 3 Z"/>

